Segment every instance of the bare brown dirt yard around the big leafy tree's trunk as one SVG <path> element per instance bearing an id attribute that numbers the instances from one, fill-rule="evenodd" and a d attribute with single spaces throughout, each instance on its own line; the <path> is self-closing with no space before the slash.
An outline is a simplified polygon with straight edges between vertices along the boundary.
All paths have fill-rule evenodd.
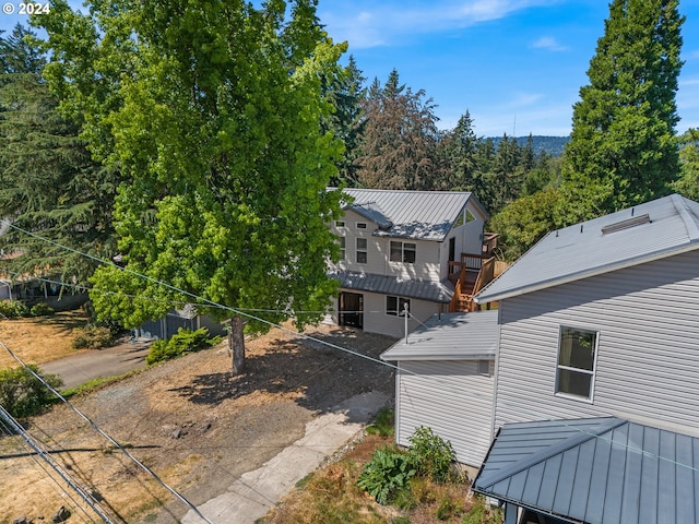
<path id="1" fill-rule="evenodd" d="M 1 324 L 1 323 L 0 323 Z M 394 340 L 320 326 L 315 336 L 378 358 Z M 225 347 L 154 367 L 73 404 L 194 504 L 225 491 L 304 434 L 306 422 L 368 391 L 393 396 L 391 368 L 305 341 L 281 330 L 247 345 L 247 372 L 229 373 Z M 67 406 L 27 424 L 61 469 L 128 523 L 173 523 L 187 512 L 149 475 L 115 451 Z M 50 522 L 70 507 L 69 522 L 91 522 L 92 510 L 29 453 L 19 437 L 0 433 L 0 523 L 26 515 Z M 52 473 L 52 472 L 51 472 Z M 57 475 L 52 474 L 52 478 Z M 90 515 L 90 516 L 87 516 Z"/>

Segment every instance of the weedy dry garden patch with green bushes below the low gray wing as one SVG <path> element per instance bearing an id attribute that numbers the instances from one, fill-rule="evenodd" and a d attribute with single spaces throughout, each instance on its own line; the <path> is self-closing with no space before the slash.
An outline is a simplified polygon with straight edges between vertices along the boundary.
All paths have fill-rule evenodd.
<path id="1" fill-rule="evenodd" d="M 469 479 L 453 463 L 445 481 L 436 481 L 411 465 L 416 456 L 426 471 L 439 472 L 449 443 L 427 428 L 413 434 L 413 445 L 398 448 L 378 428 L 391 428 L 393 412 L 382 410 L 367 436 L 337 462 L 313 472 L 296 485 L 260 522 L 344 524 L 501 524 L 501 510 L 469 493 Z M 388 431 L 387 431 L 388 432 Z M 411 450 L 414 448 L 413 450 Z M 412 456 L 411 456 L 412 453 Z M 387 503 L 371 496 L 375 491 Z"/>

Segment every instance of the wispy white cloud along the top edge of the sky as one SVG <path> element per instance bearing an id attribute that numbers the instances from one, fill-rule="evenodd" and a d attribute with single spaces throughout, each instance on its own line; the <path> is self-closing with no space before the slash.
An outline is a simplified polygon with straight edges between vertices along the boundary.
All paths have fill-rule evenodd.
<path id="1" fill-rule="evenodd" d="M 502 19 L 516 11 L 552 5 L 561 0 L 332 0 L 319 7 L 319 17 L 336 40 L 353 48 L 388 45 L 414 34 L 463 28 Z"/>

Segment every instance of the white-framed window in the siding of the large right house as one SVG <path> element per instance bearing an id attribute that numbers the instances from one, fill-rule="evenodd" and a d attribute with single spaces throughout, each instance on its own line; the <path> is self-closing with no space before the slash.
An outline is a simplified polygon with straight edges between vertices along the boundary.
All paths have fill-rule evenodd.
<path id="1" fill-rule="evenodd" d="M 592 400 L 597 335 L 596 331 L 560 327 L 556 393 Z"/>

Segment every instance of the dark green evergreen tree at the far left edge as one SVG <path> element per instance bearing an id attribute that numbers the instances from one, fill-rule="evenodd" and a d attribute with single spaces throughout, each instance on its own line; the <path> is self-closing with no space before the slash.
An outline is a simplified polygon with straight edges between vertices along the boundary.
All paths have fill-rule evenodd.
<path id="1" fill-rule="evenodd" d="M 46 63 L 17 25 L 0 36 L 0 217 L 95 257 L 116 249 L 111 209 L 118 174 L 95 163 L 79 127 L 58 111 L 42 72 Z M 87 283 L 96 264 L 15 229 L 0 236 L 14 276 L 54 275 Z"/>

